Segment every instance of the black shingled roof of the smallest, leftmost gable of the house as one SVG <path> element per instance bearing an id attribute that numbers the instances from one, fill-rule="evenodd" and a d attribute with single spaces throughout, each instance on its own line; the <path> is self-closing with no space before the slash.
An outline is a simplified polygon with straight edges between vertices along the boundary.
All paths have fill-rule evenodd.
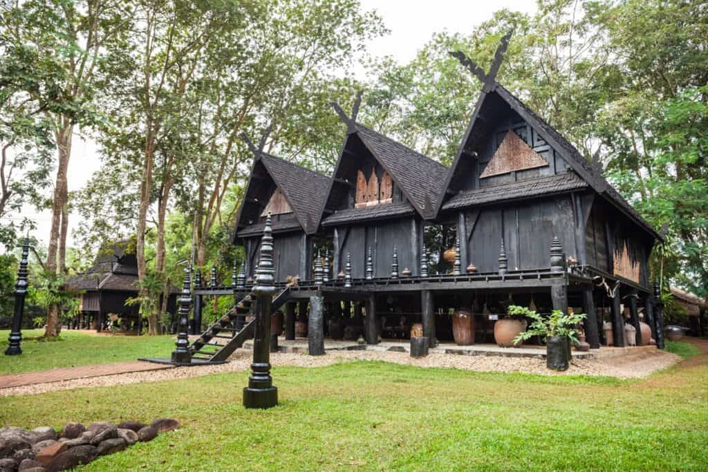
<path id="1" fill-rule="evenodd" d="M 263 164 L 270 178 L 273 179 L 275 185 L 282 191 L 285 200 L 287 200 L 287 203 L 295 213 L 295 217 L 303 231 L 308 234 L 316 232 L 321 208 L 322 205 L 324 205 L 324 199 L 329 189 L 330 178 L 262 151 L 256 154 L 251 174 L 258 163 Z M 249 183 L 246 185 L 244 202 L 241 203 L 238 217 L 236 217 L 234 238 L 236 236 L 248 236 L 251 234 L 248 229 L 239 230 L 241 213 L 246 202 L 246 197 L 249 195 L 249 189 L 251 189 L 251 185 L 253 185 L 251 180 L 252 179 L 249 178 Z M 275 227 L 273 229 L 275 230 Z M 287 229 L 295 228 L 290 225 Z"/>

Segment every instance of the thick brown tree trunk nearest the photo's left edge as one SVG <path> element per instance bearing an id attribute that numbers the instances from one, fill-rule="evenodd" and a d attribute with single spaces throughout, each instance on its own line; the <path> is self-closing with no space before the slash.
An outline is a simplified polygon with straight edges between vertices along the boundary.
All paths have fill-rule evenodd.
<path id="1" fill-rule="evenodd" d="M 74 135 L 74 125 L 67 120 L 64 126 L 55 133 L 57 142 L 57 180 L 54 188 L 54 201 L 52 202 L 52 227 L 49 236 L 49 248 L 47 249 L 47 263 L 45 267 L 50 276 L 62 275 L 66 264 L 66 232 L 69 225 L 67 218 L 67 200 L 69 197 L 67 183 L 67 169 L 69 168 L 69 157 L 72 154 L 72 137 Z M 64 243 L 61 243 L 61 241 Z M 58 274 L 57 274 L 58 268 Z M 60 314 L 62 307 L 52 304 L 47 309 L 47 328 L 45 337 L 56 338 L 61 331 Z"/>

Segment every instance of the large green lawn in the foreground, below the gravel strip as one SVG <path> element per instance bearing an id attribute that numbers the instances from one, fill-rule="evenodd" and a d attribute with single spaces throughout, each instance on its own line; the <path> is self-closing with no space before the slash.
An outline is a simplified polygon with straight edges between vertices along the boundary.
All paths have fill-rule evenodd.
<path id="1" fill-rule="evenodd" d="M 240 372 L 0 398 L 0 425 L 183 423 L 90 471 L 705 471 L 702 357 L 641 381 L 384 362 L 279 367 L 271 410 L 241 407 Z"/>

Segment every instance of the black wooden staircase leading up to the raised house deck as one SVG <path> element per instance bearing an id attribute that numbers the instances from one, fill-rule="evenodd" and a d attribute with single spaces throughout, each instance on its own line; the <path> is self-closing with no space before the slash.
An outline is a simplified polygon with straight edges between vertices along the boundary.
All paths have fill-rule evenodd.
<path id="1" fill-rule="evenodd" d="M 273 297 L 273 311 L 277 310 L 290 298 L 290 288 L 282 289 Z M 255 302 L 252 294 L 247 294 L 234 308 L 227 311 L 212 326 L 207 328 L 202 335 L 189 346 L 193 359 L 202 359 L 205 362 L 224 362 L 232 353 L 244 343 L 253 338 L 256 324 L 255 320 L 247 321 L 241 329 L 236 327 L 239 317 L 251 314 L 251 307 Z"/>

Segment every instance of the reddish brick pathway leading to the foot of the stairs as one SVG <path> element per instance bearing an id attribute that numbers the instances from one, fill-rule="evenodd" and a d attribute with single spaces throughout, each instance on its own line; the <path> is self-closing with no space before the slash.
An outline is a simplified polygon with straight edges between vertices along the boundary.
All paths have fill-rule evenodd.
<path id="1" fill-rule="evenodd" d="M 25 372 L 0 376 L 0 388 L 18 387 L 24 385 L 45 384 L 72 379 L 86 379 L 104 375 L 129 374 L 130 372 L 145 372 L 149 370 L 172 369 L 168 364 L 152 364 L 150 362 L 115 362 L 113 364 L 85 365 L 67 367 L 65 369 L 50 369 L 40 372 Z"/>

